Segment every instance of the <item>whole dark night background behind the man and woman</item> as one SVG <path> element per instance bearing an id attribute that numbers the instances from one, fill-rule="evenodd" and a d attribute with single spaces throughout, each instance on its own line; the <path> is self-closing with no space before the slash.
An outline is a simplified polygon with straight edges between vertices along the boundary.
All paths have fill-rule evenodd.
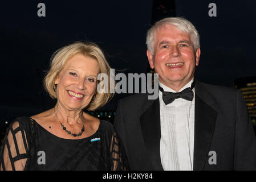
<path id="1" fill-rule="evenodd" d="M 40 2 L 46 17 L 37 15 Z M 216 17 L 208 15 L 212 2 Z M 249 0 L 1 2 L 0 127 L 54 105 L 41 80 L 52 53 L 74 41 L 97 43 L 120 72 L 146 73 L 147 30 L 167 16 L 183 16 L 200 34 L 198 80 L 233 87 L 235 78 L 256 76 L 255 10 L 256 2 Z M 124 96 L 116 94 L 101 110 L 115 110 Z"/>

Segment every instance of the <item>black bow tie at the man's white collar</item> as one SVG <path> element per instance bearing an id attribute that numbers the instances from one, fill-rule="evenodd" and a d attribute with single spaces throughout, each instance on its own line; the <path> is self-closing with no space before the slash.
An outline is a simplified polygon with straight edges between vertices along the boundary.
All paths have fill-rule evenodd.
<path id="1" fill-rule="evenodd" d="M 181 92 L 165 92 L 164 89 L 159 86 L 159 90 L 162 92 L 162 100 L 164 101 L 165 105 L 172 103 L 176 98 L 184 98 L 185 100 L 192 101 L 194 97 L 194 93 L 192 89 L 196 84 L 196 80 L 193 81 L 191 87 L 182 90 Z"/>

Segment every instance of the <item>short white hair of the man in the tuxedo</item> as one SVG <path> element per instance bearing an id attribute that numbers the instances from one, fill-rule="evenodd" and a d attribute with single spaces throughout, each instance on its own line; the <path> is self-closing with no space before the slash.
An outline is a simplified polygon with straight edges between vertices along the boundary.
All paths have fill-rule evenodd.
<path id="1" fill-rule="evenodd" d="M 154 43 L 155 43 L 155 35 L 160 27 L 172 25 L 176 27 L 178 30 L 182 32 L 186 32 L 190 35 L 192 40 L 194 51 L 200 48 L 200 38 L 196 28 L 193 26 L 189 20 L 181 17 L 170 17 L 164 18 L 156 22 L 151 28 L 149 28 L 147 32 L 147 47 L 151 54 L 154 54 Z"/>

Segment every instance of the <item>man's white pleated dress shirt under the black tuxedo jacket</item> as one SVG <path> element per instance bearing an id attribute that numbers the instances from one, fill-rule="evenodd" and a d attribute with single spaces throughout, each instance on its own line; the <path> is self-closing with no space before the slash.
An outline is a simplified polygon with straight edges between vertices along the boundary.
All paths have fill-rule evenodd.
<path id="1" fill-rule="evenodd" d="M 194 78 L 178 92 L 191 86 Z M 168 92 L 176 92 L 167 86 L 159 85 Z M 194 88 L 193 88 L 194 93 Z M 177 98 L 165 105 L 162 92 L 160 101 L 160 156 L 165 171 L 192 171 L 194 155 L 194 98 L 187 101 Z"/>

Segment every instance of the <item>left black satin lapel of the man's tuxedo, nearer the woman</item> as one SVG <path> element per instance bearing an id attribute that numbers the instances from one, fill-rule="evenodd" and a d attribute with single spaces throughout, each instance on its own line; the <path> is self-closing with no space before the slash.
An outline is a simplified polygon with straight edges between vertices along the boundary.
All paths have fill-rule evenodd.
<path id="1" fill-rule="evenodd" d="M 144 142 L 148 151 L 149 157 L 151 158 L 152 167 L 156 171 L 163 170 L 160 158 L 160 105 L 159 99 L 152 101 L 148 109 L 141 115 L 140 124 L 141 131 L 143 133 Z"/>

